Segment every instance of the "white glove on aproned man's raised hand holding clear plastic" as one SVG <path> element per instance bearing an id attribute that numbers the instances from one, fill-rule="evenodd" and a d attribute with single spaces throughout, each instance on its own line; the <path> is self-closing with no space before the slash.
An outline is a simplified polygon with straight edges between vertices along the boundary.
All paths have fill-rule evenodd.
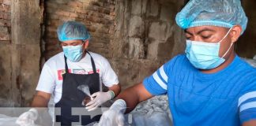
<path id="1" fill-rule="evenodd" d="M 88 102 L 86 104 L 85 109 L 88 109 L 88 111 L 92 111 L 96 109 L 98 106 L 103 104 L 104 102 L 107 102 L 111 98 L 115 97 L 115 94 L 113 91 L 107 91 L 107 92 L 96 92 L 90 96 L 92 99 L 91 102 Z M 95 98 L 94 98 L 95 97 Z"/>

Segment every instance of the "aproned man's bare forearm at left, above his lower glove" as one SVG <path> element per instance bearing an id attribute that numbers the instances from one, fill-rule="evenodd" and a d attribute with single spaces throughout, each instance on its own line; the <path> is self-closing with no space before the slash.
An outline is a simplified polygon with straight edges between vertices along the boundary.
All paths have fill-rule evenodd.
<path id="1" fill-rule="evenodd" d="M 33 98 L 31 106 L 32 107 L 47 107 L 50 98 L 51 98 L 50 93 L 46 93 L 43 91 L 37 91 L 36 95 Z"/>

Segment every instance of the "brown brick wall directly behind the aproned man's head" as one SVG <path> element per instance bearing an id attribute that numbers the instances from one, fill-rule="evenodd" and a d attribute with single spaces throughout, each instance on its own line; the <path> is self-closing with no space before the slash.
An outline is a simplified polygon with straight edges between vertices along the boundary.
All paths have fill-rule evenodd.
<path id="1" fill-rule="evenodd" d="M 62 51 L 56 30 L 65 20 L 77 20 L 85 24 L 92 35 L 89 50 L 111 57 L 108 46 L 114 34 L 114 0 L 47 0 L 44 15 L 42 53 L 46 60 Z"/>

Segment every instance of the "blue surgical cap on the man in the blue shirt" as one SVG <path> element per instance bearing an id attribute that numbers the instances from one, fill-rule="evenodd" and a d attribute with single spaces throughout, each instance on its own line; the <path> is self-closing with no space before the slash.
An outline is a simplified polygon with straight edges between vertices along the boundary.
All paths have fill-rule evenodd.
<path id="1" fill-rule="evenodd" d="M 247 16 L 240 0 L 190 0 L 175 20 L 183 29 L 202 25 L 232 28 L 239 24 L 242 35 L 247 28 Z"/>

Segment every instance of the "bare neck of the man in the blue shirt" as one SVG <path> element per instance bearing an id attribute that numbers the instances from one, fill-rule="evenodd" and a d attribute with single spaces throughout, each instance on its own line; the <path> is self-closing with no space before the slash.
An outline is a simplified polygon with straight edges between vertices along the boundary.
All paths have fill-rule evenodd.
<path id="1" fill-rule="evenodd" d="M 231 64 L 234 58 L 235 58 L 235 52 L 232 52 L 232 54 L 230 54 L 229 57 L 220 66 L 216 67 L 215 69 L 201 69 L 201 72 L 204 72 L 204 73 L 219 72 L 220 70 L 225 69 L 229 64 Z"/>

